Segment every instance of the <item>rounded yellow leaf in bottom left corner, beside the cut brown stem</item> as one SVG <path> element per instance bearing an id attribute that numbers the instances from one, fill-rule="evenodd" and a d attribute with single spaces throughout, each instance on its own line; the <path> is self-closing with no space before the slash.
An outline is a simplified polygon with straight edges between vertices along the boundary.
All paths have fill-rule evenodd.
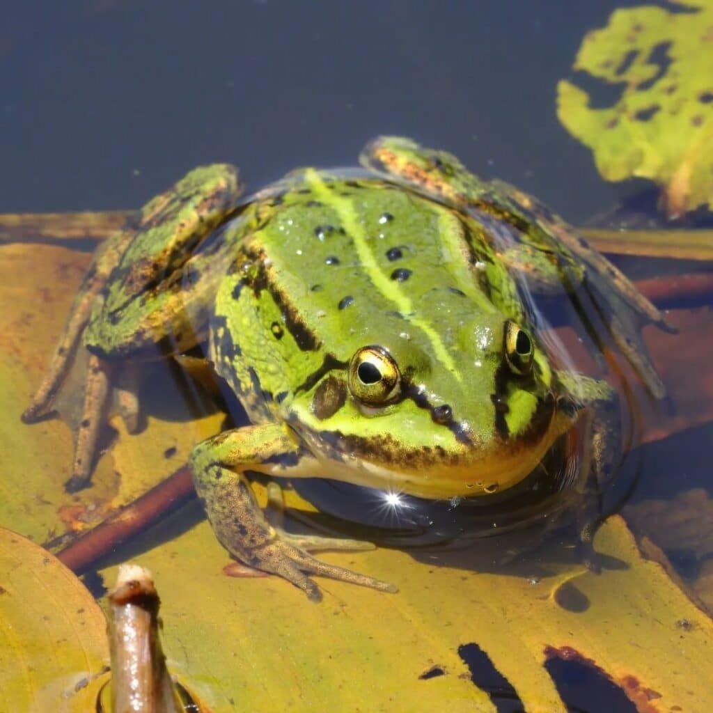
<path id="1" fill-rule="evenodd" d="M 106 622 L 84 585 L 0 528 L 0 710 L 93 710 L 108 660 Z"/>

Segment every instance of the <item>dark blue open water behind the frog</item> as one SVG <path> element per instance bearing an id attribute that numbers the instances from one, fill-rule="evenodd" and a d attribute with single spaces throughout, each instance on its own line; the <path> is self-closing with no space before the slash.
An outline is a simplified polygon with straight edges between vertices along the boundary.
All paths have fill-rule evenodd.
<path id="1" fill-rule="evenodd" d="M 5 4 L 0 211 L 136 207 L 211 161 L 257 188 L 397 133 L 580 221 L 627 188 L 560 127 L 555 86 L 585 32 L 634 4 Z"/>

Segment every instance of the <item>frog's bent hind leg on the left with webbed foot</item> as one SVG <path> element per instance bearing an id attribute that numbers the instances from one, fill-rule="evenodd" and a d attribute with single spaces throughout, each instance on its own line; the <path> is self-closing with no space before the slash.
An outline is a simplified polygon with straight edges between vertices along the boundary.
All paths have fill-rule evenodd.
<path id="1" fill-rule="evenodd" d="M 68 491 L 89 483 L 113 395 L 127 430 L 138 429 L 138 374 L 135 364 L 120 363 L 120 358 L 155 359 L 195 345 L 197 325 L 186 305 L 200 301 L 201 290 L 210 289 L 212 273 L 204 268 L 215 260 L 212 253 L 196 258 L 195 252 L 239 194 L 232 166 L 195 169 L 148 202 L 96 251 L 48 374 L 22 416 L 31 423 L 52 408 L 77 350 L 86 347 L 90 355 Z M 184 270 L 190 272 L 188 287 L 182 282 Z"/>

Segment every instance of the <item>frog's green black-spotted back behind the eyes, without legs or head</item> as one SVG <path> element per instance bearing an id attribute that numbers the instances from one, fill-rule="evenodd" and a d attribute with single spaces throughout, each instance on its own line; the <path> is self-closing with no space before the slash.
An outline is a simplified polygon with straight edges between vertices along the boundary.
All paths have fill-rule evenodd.
<path id="1" fill-rule="evenodd" d="M 491 249 L 456 212 L 377 179 L 307 170 L 258 211 L 267 218 L 220 290 L 219 329 L 231 322 L 223 334 L 240 344 L 222 349 L 217 367 L 244 381 L 250 364 L 253 384 L 273 396 L 304 385 L 327 355 L 347 362 L 365 344 L 408 342 L 453 375 L 467 349 L 459 327 L 476 313 L 483 327 L 488 315 L 501 324 L 500 293 L 515 289 L 504 273 L 486 275 Z M 227 363 L 236 355 L 242 366 Z"/>

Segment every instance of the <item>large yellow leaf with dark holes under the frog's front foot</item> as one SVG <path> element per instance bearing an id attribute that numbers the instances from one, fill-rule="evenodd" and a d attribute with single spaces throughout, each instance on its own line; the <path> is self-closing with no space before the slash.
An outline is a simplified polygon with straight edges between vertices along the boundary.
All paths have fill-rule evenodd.
<path id="1" fill-rule="evenodd" d="M 564 712 L 548 666 L 578 661 L 645 698 L 642 711 L 703 711 L 713 699 L 709 617 L 642 559 L 621 518 L 596 545 L 614 563 L 602 575 L 570 557 L 533 561 L 535 577 L 527 567 L 478 572 L 467 552 L 325 554 L 400 592 L 320 580 L 321 605 L 277 578 L 225 577 L 207 523 L 140 561 L 162 593 L 170 669 L 216 711 L 495 711 L 468 650 L 483 652 L 528 711 Z"/>

